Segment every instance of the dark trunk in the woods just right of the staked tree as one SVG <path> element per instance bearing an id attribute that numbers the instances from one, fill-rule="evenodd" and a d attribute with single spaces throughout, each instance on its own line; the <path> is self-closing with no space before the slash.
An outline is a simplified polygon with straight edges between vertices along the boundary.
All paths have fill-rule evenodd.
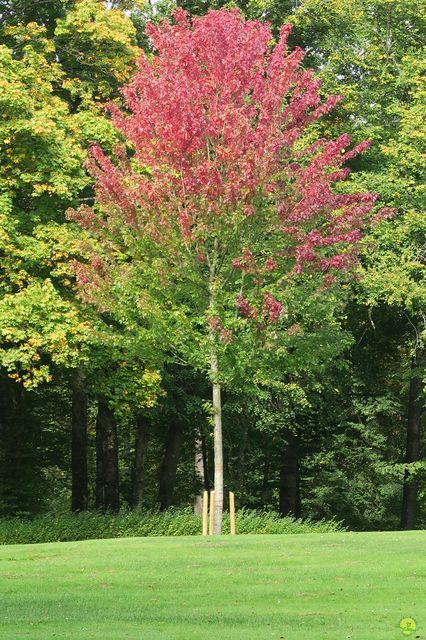
<path id="1" fill-rule="evenodd" d="M 286 444 L 280 468 L 280 506 L 282 516 L 300 518 L 300 477 L 297 437 L 291 431 L 284 434 Z"/>

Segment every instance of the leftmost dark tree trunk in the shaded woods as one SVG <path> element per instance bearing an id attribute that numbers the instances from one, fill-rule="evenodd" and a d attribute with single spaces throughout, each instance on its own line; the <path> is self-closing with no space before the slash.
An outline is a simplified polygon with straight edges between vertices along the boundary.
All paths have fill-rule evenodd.
<path id="1" fill-rule="evenodd" d="M 72 511 L 87 509 L 87 396 L 84 386 L 84 372 L 79 367 L 71 382 L 72 420 L 71 420 L 71 476 Z"/>

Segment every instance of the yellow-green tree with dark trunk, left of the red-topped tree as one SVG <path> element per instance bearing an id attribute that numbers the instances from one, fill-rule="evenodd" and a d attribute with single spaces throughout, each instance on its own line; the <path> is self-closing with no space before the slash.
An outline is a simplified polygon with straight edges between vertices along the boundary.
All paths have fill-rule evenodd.
<path id="1" fill-rule="evenodd" d="M 90 6 L 92 13 L 88 13 Z M 92 22 L 79 40 L 76 34 L 84 8 L 86 18 L 90 17 Z M 73 45 L 68 53 L 72 49 L 81 57 L 84 51 L 86 62 L 96 59 L 96 73 L 101 74 L 104 69 L 104 77 L 109 79 L 103 85 L 104 93 L 109 89 L 108 96 L 116 97 L 114 90 L 128 77 L 126 70 L 132 66 L 130 57 L 134 58 L 137 52 L 131 42 L 133 29 L 129 19 L 117 11 L 108 12 L 103 3 L 90 2 L 77 3 L 68 18 L 59 22 L 58 46 L 64 45 L 66 34 Z M 96 26 L 102 29 L 96 30 Z M 120 41 L 120 46 L 110 46 L 109 50 L 105 46 L 108 28 L 110 35 L 113 31 Z M 90 42 L 88 33 L 96 33 L 97 38 Z M 124 336 L 119 339 L 114 336 L 107 320 L 99 314 L 93 315 L 93 310 L 75 299 L 75 278 L 69 263 L 82 233 L 66 221 L 65 210 L 80 199 L 90 198 L 92 193 L 90 178 L 82 166 L 87 153 L 85 147 L 88 140 L 94 139 L 112 147 L 118 133 L 100 115 L 99 104 L 92 101 L 94 83 L 91 85 L 87 78 L 87 67 L 81 66 L 81 78 L 77 77 L 75 68 L 74 77 L 67 78 L 64 68 L 71 74 L 66 65 L 69 57 L 65 51 L 55 49 L 55 42 L 45 27 L 36 23 L 9 25 L 4 27 L 1 36 L 7 46 L 0 46 L 3 115 L 0 126 L 0 376 L 2 380 L 5 378 L 4 394 L 10 394 L 4 405 L 3 442 L 10 441 L 8 434 L 13 433 L 13 423 L 18 423 L 15 414 L 21 414 L 25 420 L 19 420 L 19 424 L 27 432 L 20 441 L 25 446 L 28 441 L 31 448 L 34 437 L 34 450 L 41 449 L 37 444 L 38 432 L 43 431 L 44 425 L 49 436 L 51 420 L 47 418 L 47 410 L 46 420 L 39 417 L 31 420 L 31 408 L 38 411 L 37 397 L 44 397 L 43 385 L 55 378 L 51 393 L 55 394 L 56 385 L 62 385 L 65 397 L 58 408 L 59 433 L 63 431 L 64 414 L 69 416 L 66 423 L 70 427 L 71 502 L 73 510 L 78 511 L 87 506 L 88 493 L 87 393 L 91 396 L 89 400 L 102 395 L 103 401 L 113 405 L 114 412 L 122 416 L 128 411 L 128 406 L 124 410 L 123 405 L 129 390 L 133 392 L 136 410 L 140 405 L 145 406 L 147 396 L 142 398 L 145 391 L 150 388 L 150 395 L 156 386 L 155 382 L 151 384 L 157 375 L 154 371 L 150 372 L 153 375 L 149 381 L 144 377 L 138 347 L 139 355 L 135 352 L 133 361 L 126 349 L 127 361 L 123 365 L 120 340 Z M 119 56 L 122 59 L 118 60 Z M 77 89 L 81 89 L 80 93 Z M 77 113 L 72 112 L 76 108 L 73 91 L 79 97 Z M 82 96 L 84 106 L 80 104 Z M 109 387 L 100 374 L 106 362 L 114 363 L 108 378 Z M 38 387 L 42 388 L 40 394 L 34 391 Z M 32 391 L 28 393 L 26 389 Z M 9 405 L 18 404 L 22 406 L 19 411 L 7 409 Z M 111 423 L 102 420 L 106 414 L 107 410 L 101 410 L 100 425 Z M 47 440 L 47 436 L 42 432 L 41 441 Z M 11 460 L 17 459 L 12 447 L 9 452 Z M 7 458 L 8 455 L 6 463 L 13 464 Z M 63 459 L 62 451 L 58 459 Z M 110 459 L 114 460 L 112 456 Z M 23 473 L 17 472 L 16 477 L 23 477 Z M 27 486 L 30 485 L 27 483 Z M 43 490 L 39 493 L 43 495 Z M 19 505 L 16 508 L 19 509 Z"/>

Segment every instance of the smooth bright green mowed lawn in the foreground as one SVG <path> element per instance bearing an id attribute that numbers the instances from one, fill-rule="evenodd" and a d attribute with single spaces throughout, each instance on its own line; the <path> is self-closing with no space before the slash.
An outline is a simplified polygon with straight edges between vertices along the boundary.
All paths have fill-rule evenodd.
<path id="1" fill-rule="evenodd" d="M 426 639 L 426 532 L 6 546 L 0 594 L 1 640 Z"/>

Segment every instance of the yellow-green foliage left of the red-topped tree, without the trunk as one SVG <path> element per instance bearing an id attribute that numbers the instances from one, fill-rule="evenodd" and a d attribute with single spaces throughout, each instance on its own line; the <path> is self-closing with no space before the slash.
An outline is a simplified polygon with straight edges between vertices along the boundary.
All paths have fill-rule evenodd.
<path id="1" fill-rule="evenodd" d="M 121 11 L 83 1 L 58 21 L 57 42 L 36 23 L 7 26 L 3 36 L 8 46 L 1 45 L 0 58 L 0 364 L 16 381 L 35 387 L 50 381 L 55 369 L 87 364 L 89 352 L 97 370 L 115 357 L 120 365 L 113 367 L 109 395 L 116 403 L 120 395 L 131 396 L 134 409 L 152 404 L 158 374 L 145 371 L 140 360 L 123 367 L 126 338 L 117 340 L 111 327 L 75 299 L 70 261 L 81 255 L 84 234 L 65 220 L 67 206 L 91 195 L 83 167 L 87 144 L 97 140 L 111 148 L 118 141 L 92 99 L 100 80 L 95 74 L 92 86 L 85 73 L 96 61 L 108 78 L 103 98 L 112 97 L 133 69 L 134 29 Z M 70 76 L 64 42 L 87 64 L 77 64 L 81 77 Z M 90 43 L 89 51 L 84 47 Z M 87 98 L 77 112 L 64 91 L 71 85 L 84 87 Z M 80 102 L 83 93 L 76 93 Z M 125 403 L 120 408 L 129 412 Z"/>

